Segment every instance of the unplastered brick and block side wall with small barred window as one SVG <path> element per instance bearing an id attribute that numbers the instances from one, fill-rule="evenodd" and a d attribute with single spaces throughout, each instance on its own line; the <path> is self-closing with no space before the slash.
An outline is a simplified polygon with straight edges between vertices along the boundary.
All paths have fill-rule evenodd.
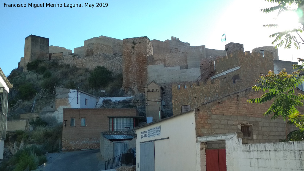
<path id="1" fill-rule="evenodd" d="M 248 138 L 248 143 L 278 142 L 279 139 L 284 139 L 285 121 L 263 116 L 271 103 L 247 103 L 247 99 L 261 97 L 262 94 L 263 92 L 247 89 L 199 106 L 195 110 L 197 137 L 241 132 L 241 124 L 246 124 L 251 125 L 253 135 Z M 299 110 L 303 111 L 303 107 Z M 294 129 L 288 125 L 288 132 Z M 224 143 L 210 142 L 207 147 L 225 148 Z"/>

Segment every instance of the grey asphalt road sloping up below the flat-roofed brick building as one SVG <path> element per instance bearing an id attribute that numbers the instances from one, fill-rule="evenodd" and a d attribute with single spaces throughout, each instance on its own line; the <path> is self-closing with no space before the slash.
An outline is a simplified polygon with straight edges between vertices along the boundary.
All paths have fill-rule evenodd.
<path id="1" fill-rule="evenodd" d="M 104 169 L 104 163 L 99 149 L 60 152 L 48 154 L 47 163 L 40 169 L 43 171 L 98 171 Z"/>

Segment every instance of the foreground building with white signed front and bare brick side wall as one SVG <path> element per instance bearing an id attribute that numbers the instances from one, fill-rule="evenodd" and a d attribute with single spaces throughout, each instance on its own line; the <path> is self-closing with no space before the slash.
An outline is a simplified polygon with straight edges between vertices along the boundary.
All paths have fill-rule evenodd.
<path id="1" fill-rule="evenodd" d="M 302 91 L 296 90 L 297 92 Z M 263 116 L 271 103 L 247 103 L 247 99 L 261 97 L 262 94 L 263 92 L 255 92 L 251 88 L 244 89 L 202 103 L 194 110 L 136 128 L 136 163 L 139 166 L 136 170 L 146 168 L 147 161 L 154 161 L 149 166 L 154 167 L 154 170 L 206 171 L 206 165 L 209 165 L 206 158 L 211 157 L 206 153 L 208 150 L 230 148 L 226 146 L 225 139 L 203 141 L 206 137 L 217 134 L 240 133 L 244 144 L 285 139 L 285 121 L 282 118 L 272 120 L 270 116 Z M 303 106 L 298 109 L 304 111 Z M 160 128 L 159 134 L 153 134 L 155 127 Z M 293 125 L 287 127 L 288 133 L 296 129 Z M 147 136 L 144 135 L 146 130 Z M 225 151 L 223 154 L 226 156 Z M 221 160 L 226 167 L 226 159 Z"/>

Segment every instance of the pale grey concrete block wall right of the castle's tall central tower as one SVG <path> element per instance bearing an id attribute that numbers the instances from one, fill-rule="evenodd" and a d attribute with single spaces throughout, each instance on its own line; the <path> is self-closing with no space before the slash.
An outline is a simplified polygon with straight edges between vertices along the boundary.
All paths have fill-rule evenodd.
<path id="1" fill-rule="evenodd" d="M 195 81 L 199 78 L 200 68 L 180 69 L 180 67 L 165 67 L 164 65 L 148 66 L 148 82 L 157 83 Z"/>

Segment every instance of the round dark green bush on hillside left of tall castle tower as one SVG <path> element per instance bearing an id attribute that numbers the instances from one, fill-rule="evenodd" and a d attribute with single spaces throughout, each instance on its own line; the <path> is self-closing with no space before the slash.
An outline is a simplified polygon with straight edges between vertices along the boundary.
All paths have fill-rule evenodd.
<path id="1" fill-rule="evenodd" d="M 113 72 L 104 66 L 97 66 L 89 76 L 89 83 L 94 88 L 105 87 L 112 80 Z"/>

